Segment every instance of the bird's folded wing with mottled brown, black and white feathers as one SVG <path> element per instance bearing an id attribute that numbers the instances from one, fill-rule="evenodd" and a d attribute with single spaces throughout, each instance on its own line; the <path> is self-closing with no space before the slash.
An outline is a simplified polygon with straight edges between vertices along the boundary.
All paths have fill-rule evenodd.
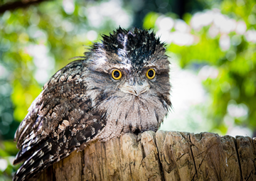
<path id="1" fill-rule="evenodd" d="M 82 60 L 59 70 L 28 109 L 14 140 L 20 149 L 14 164 L 25 161 L 14 180 L 25 180 L 80 149 L 105 126 L 102 113 L 92 109 Z"/>

